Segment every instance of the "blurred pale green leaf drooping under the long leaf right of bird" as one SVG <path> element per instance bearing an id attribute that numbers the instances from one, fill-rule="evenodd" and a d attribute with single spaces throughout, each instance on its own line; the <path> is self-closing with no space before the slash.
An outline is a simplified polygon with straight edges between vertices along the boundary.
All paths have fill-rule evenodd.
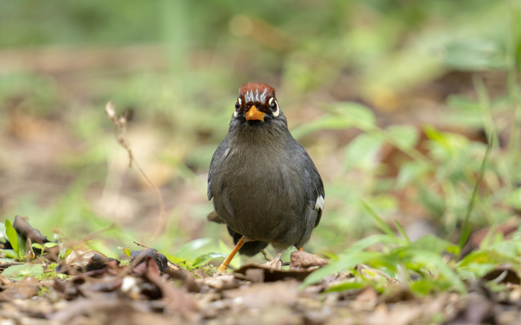
<path id="1" fill-rule="evenodd" d="M 371 133 L 359 134 L 345 147 L 345 168 L 375 166 L 375 155 L 383 145 L 383 137 Z"/>

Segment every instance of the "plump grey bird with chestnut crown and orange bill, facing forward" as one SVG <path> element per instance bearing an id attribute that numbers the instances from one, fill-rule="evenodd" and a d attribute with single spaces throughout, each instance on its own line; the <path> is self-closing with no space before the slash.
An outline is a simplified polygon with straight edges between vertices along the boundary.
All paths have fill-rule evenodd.
<path id="1" fill-rule="evenodd" d="M 237 252 L 253 256 L 269 243 L 302 251 L 324 211 L 322 178 L 291 135 L 275 92 L 264 83 L 239 88 L 228 134 L 210 161 L 208 200 L 235 243 L 217 273 L 226 273 Z"/>

